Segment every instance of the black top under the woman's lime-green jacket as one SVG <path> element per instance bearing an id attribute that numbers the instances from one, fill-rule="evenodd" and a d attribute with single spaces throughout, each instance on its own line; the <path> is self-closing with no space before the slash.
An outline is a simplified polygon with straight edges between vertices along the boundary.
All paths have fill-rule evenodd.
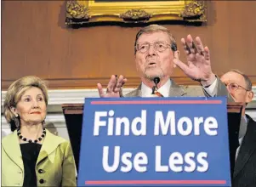
<path id="1" fill-rule="evenodd" d="M 37 186 L 36 163 L 42 144 L 20 144 L 22 160 L 24 164 L 23 187 Z"/>

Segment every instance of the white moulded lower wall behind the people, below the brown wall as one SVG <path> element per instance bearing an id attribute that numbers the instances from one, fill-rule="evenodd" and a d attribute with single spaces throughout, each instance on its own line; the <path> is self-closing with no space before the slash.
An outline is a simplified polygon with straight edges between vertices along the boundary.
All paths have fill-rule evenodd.
<path id="1" fill-rule="evenodd" d="M 133 88 L 124 89 L 123 93 L 126 94 Z M 253 87 L 254 99 L 256 102 L 256 87 Z M 2 92 L 2 106 L 6 92 Z M 76 90 L 49 90 L 49 101 L 48 101 L 48 116 L 46 117 L 46 123 L 48 129 L 53 133 L 58 133 L 61 137 L 69 139 L 68 133 L 65 126 L 65 117 L 61 111 L 60 105 L 62 104 L 79 104 L 84 102 L 84 98 L 99 97 L 97 89 L 76 89 Z M 253 103 L 254 103 L 253 102 Z M 247 114 L 252 116 L 256 121 L 256 107 L 253 106 L 254 110 L 248 110 Z M 5 121 L 2 114 L 2 138 L 10 133 L 9 124 Z"/>

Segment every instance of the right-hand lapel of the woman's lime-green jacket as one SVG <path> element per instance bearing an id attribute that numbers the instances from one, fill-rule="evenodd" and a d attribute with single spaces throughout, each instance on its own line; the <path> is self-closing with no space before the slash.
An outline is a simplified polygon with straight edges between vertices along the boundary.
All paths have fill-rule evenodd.
<path id="1" fill-rule="evenodd" d="M 60 139 L 58 136 L 55 136 L 46 129 L 46 136 L 37 158 L 37 164 L 47 158 L 48 155 L 51 154 L 59 146 L 59 144 L 64 141 L 65 139 Z"/>

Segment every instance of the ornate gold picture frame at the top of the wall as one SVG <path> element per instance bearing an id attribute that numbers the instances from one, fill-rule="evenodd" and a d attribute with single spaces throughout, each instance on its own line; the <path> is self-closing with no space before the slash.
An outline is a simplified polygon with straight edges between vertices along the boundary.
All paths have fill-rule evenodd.
<path id="1" fill-rule="evenodd" d="M 66 25 L 94 22 L 147 23 L 161 20 L 205 22 L 202 0 L 73 0 L 66 2 Z"/>

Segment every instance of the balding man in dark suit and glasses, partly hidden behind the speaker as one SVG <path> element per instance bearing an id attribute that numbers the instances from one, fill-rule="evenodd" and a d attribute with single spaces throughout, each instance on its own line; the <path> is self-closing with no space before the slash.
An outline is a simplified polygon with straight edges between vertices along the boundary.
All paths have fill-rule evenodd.
<path id="1" fill-rule="evenodd" d="M 225 83 L 230 96 L 242 103 L 239 144 L 232 186 L 256 186 L 256 122 L 245 114 L 246 105 L 253 100 L 252 82 L 240 71 L 225 73 L 220 80 Z"/>

